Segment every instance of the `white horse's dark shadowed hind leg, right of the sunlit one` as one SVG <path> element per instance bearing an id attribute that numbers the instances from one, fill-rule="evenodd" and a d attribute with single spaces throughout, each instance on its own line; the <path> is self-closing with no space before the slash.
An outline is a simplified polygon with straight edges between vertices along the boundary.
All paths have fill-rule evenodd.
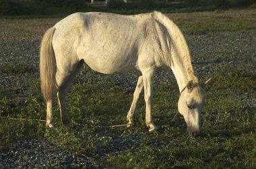
<path id="1" fill-rule="evenodd" d="M 69 74 L 69 76 L 66 78 L 66 80 L 63 81 L 63 84 L 60 85 L 59 91 L 57 93 L 58 100 L 59 100 L 59 109 L 61 111 L 61 121 L 63 124 L 67 125 L 69 123 L 69 115 L 67 113 L 67 107 L 65 103 L 65 96 L 67 95 L 67 92 L 69 91 L 69 87 L 71 86 L 71 83 L 75 79 L 75 74 L 79 72 L 80 68 L 82 68 L 84 61 L 80 61 L 79 64 L 77 64 L 75 70 Z"/>

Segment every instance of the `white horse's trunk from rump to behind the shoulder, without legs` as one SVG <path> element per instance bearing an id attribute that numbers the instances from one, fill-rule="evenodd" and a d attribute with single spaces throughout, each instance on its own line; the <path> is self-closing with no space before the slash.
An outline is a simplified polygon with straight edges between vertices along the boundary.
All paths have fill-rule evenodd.
<path id="1" fill-rule="evenodd" d="M 53 43 L 62 54 L 77 55 L 71 60 L 84 60 L 98 72 L 127 72 L 137 69 L 150 22 L 150 13 L 73 13 L 55 25 Z"/>

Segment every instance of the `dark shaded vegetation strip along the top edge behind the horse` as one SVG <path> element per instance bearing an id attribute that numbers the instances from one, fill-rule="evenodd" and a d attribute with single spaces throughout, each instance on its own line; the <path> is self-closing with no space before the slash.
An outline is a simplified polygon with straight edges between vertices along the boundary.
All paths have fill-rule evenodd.
<path id="1" fill-rule="evenodd" d="M 66 15 L 75 11 L 104 11 L 111 13 L 135 14 L 154 10 L 166 13 L 195 11 L 216 11 L 223 9 L 255 9 L 255 0 L 0 0 L 0 15 Z"/>

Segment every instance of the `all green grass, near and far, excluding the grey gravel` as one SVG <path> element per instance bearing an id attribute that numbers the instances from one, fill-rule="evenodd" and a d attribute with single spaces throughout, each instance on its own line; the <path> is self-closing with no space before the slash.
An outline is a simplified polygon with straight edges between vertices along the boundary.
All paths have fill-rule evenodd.
<path id="1" fill-rule="evenodd" d="M 168 16 L 186 34 L 214 36 L 215 32 L 255 30 L 256 23 L 255 11 L 251 10 L 179 13 Z M 6 27 L 13 30 L 18 23 L 18 29 L 28 27 L 28 31 L 36 35 L 33 40 L 38 41 L 42 30 L 57 20 L 59 19 L 1 19 L 1 23 L 5 23 L 0 28 L 5 29 L 1 38 L 7 40 L 6 43 L 15 42 L 17 37 L 8 39 L 12 33 Z M 232 26 L 242 21 L 245 24 L 235 28 Z M 33 28 L 40 25 L 42 27 L 39 30 Z M 24 41 L 30 37 L 29 34 L 15 34 L 17 39 L 24 38 Z M 229 55 L 228 51 L 218 52 L 222 52 L 221 60 Z M 204 53 L 198 56 L 205 59 Z M 154 87 L 153 117 L 160 129 L 149 133 L 144 122 L 143 97 L 139 100 L 135 124 L 131 128 L 108 127 L 126 123 L 125 117 L 133 91 L 115 84 L 108 76 L 94 76 L 96 72 L 87 67 L 83 71 L 88 72 L 88 75 L 75 80 L 66 99 L 71 117 L 70 125 L 61 124 L 57 100 L 54 129 L 47 129 L 42 121 L 1 118 L 0 151 L 11 148 L 13 139 L 46 138 L 65 150 L 90 157 L 88 166 L 94 168 L 256 167 L 256 107 L 255 104 L 249 105 L 248 99 L 239 99 L 250 96 L 255 99 L 256 78 L 253 64 L 241 63 L 232 68 L 223 66 L 212 74 L 212 82 L 206 88 L 206 105 L 203 108 L 203 134 L 197 138 L 191 138 L 185 132 L 186 125 L 181 115 L 171 122 L 177 112 L 177 84 L 160 82 Z M 8 76 L 25 76 L 27 79 L 26 82 L 12 84 L 11 89 L 0 88 L 0 115 L 45 119 L 45 104 L 40 94 L 37 65 L 3 62 L 0 72 Z M 0 79 L 0 82 L 2 80 L 4 79 Z"/>

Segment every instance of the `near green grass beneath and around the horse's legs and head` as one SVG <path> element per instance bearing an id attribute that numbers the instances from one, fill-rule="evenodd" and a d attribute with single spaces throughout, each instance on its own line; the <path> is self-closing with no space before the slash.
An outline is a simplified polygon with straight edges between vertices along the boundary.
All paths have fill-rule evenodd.
<path id="1" fill-rule="evenodd" d="M 61 148 L 104 158 L 103 161 L 92 161 L 91 165 L 96 167 L 254 168 L 256 107 L 249 107 L 232 96 L 254 92 L 255 82 L 255 78 L 238 74 L 236 70 L 227 72 L 224 68 L 216 72 L 212 84 L 207 87 L 203 134 L 197 138 L 187 135 L 181 115 L 171 122 L 179 98 L 175 84 L 162 83 L 155 90 L 154 119 L 160 127 L 157 132 L 148 132 L 143 97 L 131 128 L 108 127 L 125 123 L 132 93 L 106 78 L 75 80 L 67 96 L 71 125 L 61 124 L 55 100 L 55 129 L 46 129 L 41 121 L 1 119 L 0 134 L 5 140 L 46 137 Z M 234 84 L 241 87 L 236 88 Z M 10 104 L 13 99 L 10 101 L 8 97 L 1 99 L 0 115 L 44 119 L 45 107 L 40 91 L 33 90 L 38 94 L 25 105 L 18 98 L 14 104 Z"/>

